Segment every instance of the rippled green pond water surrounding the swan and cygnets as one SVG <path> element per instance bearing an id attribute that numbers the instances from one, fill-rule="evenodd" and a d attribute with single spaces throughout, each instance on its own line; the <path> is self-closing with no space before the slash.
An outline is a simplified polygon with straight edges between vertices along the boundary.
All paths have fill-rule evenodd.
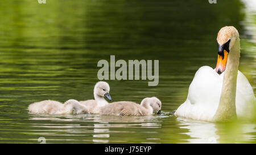
<path id="1" fill-rule="evenodd" d="M 255 143 L 255 122 L 215 124 L 170 115 L 185 101 L 198 68 L 216 65 L 216 35 L 224 25 L 240 31 L 240 71 L 255 92 L 256 9 L 245 2 L 1 1 L 0 143 L 39 143 L 39 137 L 46 143 Z M 114 101 L 158 97 L 162 115 L 28 113 L 35 101 L 93 98 L 97 62 L 110 61 L 110 55 L 116 61 L 159 60 L 156 87 L 144 80 L 108 83 Z"/>

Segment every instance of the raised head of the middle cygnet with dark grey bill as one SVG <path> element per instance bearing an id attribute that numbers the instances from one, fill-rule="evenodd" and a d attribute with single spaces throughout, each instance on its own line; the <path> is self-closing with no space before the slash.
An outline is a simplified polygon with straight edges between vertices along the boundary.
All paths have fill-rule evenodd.
<path id="1" fill-rule="evenodd" d="M 101 96 L 101 97 L 105 96 L 106 98 L 108 98 L 109 101 L 112 101 L 109 91 L 110 91 L 109 84 L 104 81 L 99 81 L 94 86 L 93 93 L 96 94 L 97 96 Z"/>

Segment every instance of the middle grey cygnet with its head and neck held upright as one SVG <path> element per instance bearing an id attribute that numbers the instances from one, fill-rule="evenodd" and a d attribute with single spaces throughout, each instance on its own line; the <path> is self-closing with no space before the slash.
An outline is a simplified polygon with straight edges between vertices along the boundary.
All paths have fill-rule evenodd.
<path id="1" fill-rule="evenodd" d="M 85 105 L 89 113 L 98 114 L 100 113 L 100 107 L 108 105 L 109 103 L 105 100 L 104 96 L 112 101 L 109 94 L 110 87 L 109 84 L 104 81 L 98 81 L 93 89 L 93 95 L 95 100 L 80 101 L 80 104 Z"/>

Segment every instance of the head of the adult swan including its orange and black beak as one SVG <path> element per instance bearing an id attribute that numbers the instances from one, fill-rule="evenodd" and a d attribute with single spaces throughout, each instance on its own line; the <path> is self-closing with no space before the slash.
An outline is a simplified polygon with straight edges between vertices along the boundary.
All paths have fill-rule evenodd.
<path id="1" fill-rule="evenodd" d="M 239 40 L 239 33 L 234 27 L 223 27 L 217 35 L 218 43 L 218 59 L 216 65 L 216 72 L 221 74 L 225 71 L 228 61 L 228 55 L 232 52 L 232 48 L 236 41 Z"/>

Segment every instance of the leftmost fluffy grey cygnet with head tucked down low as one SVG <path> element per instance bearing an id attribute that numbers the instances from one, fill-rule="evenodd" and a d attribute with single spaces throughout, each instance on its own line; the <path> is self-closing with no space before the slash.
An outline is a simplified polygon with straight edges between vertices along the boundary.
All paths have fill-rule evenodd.
<path id="1" fill-rule="evenodd" d="M 76 100 L 68 100 L 64 104 L 58 101 L 45 100 L 28 106 L 30 113 L 40 114 L 86 114 L 88 109 Z"/>

